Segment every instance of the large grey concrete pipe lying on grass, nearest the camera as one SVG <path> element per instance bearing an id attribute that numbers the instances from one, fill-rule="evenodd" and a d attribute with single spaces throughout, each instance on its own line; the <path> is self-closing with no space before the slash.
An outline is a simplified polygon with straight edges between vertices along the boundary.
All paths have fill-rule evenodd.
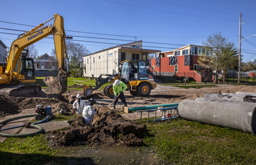
<path id="1" fill-rule="evenodd" d="M 255 135 L 255 103 L 234 101 L 183 100 L 178 106 L 180 117 L 206 124 L 229 127 Z"/>

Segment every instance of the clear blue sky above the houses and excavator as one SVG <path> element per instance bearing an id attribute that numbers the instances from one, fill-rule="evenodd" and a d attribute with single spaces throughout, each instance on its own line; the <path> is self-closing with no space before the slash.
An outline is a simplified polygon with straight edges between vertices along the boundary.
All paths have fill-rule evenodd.
<path id="1" fill-rule="evenodd" d="M 163 52 L 182 45 L 202 45 L 207 36 L 219 31 L 229 41 L 234 41 L 238 49 L 240 13 L 242 23 L 245 21 L 241 28 L 242 36 L 246 38 L 256 34 L 256 0 L 0 0 L 0 6 L 0 21 L 37 26 L 57 13 L 64 18 L 66 35 L 129 40 L 73 37 L 73 40 L 81 40 L 74 42 L 85 45 L 92 53 L 135 40 L 166 43 L 143 43 L 143 46 L 151 46 L 144 49 Z M 0 28 L 24 31 L 33 28 L 5 22 L 0 22 Z M 6 46 L 11 46 L 17 38 L 17 35 L 12 34 L 22 33 L 4 29 L 0 29 L 0 32 L 0 39 Z M 135 36 L 137 39 L 124 36 Z M 256 36 L 247 40 L 251 43 L 243 40 L 241 44 L 243 62 L 256 59 Z M 44 38 L 36 42 L 35 46 L 39 55 L 50 55 L 54 48 L 53 39 Z"/>

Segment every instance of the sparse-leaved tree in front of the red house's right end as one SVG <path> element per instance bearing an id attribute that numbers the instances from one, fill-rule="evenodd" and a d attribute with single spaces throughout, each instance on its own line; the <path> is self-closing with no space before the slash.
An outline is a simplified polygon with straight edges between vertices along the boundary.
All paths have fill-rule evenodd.
<path id="1" fill-rule="evenodd" d="M 209 37 L 206 38 L 206 41 L 202 41 L 202 44 L 205 46 L 204 50 L 201 53 L 202 56 L 198 57 L 197 62 L 203 68 L 210 68 L 215 70 L 215 82 L 218 83 L 218 71 L 223 69 L 223 56 L 225 49 L 229 48 L 231 45 L 234 46 L 233 42 L 228 41 L 225 37 L 219 33 L 212 33 Z M 234 48 L 231 47 L 231 50 Z"/>

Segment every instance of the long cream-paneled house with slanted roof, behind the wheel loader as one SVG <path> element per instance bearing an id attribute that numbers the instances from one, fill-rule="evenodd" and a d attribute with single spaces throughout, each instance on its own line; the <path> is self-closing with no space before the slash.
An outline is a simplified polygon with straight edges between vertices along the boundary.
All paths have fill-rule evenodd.
<path id="1" fill-rule="evenodd" d="M 91 53 L 84 56 L 81 64 L 83 77 L 97 78 L 100 74 L 112 74 L 114 71 L 119 73 L 121 62 L 125 60 L 142 60 L 149 67 L 149 54 L 159 51 L 143 49 L 141 40 Z M 106 77 L 108 76 L 102 76 L 102 78 Z"/>

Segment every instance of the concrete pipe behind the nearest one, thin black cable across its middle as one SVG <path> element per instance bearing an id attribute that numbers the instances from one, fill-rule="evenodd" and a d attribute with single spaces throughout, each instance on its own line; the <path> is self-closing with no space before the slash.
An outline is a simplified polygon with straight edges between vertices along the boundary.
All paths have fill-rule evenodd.
<path id="1" fill-rule="evenodd" d="M 204 97 L 217 100 L 244 101 L 245 95 L 214 94 L 208 92 L 204 94 Z"/>

